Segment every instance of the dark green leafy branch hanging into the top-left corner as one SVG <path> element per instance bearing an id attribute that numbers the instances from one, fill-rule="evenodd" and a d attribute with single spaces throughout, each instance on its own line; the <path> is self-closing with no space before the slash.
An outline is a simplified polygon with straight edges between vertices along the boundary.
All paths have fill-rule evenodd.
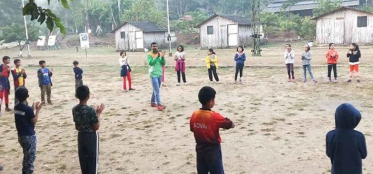
<path id="1" fill-rule="evenodd" d="M 48 4 L 50 0 L 47 0 Z M 69 8 L 68 0 L 58 0 L 65 8 Z M 70 0 L 72 1 L 72 0 Z M 50 31 L 53 31 L 54 26 L 60 28 L 61 33 L 66 34 L 65 26 L 61 19 L 57 17 L 50 9 L 42 8 L 35 3 L 35 0 L 29 0 L 22 9 L 23 15 L 30 15 L 31 20 L 36 20 L 43 24 L 44 21 Z"/>

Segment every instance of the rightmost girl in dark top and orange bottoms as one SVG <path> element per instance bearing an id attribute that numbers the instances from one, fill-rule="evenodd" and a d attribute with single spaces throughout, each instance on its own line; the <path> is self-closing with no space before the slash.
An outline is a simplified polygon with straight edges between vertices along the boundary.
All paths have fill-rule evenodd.
<path id="1" fill-rule="evenodd" d="M 347 83 L 350 83 L 352 81 L 352 77 L 354 76 L 354 73 L 355 73 L 356 79 L 358 80 L 358 83 L 360 83 L 360 78 L 359 78 L 360 61 L 359 59 L 361 57 L 361 53 L 360 53 L 359 45 L 357 45 L 356 43 L 352 43 L 350 46 L 350 50 L 347 53 L 347 57 L 350 58 L 349 59 L 350 79 L 347 81 Z"/>

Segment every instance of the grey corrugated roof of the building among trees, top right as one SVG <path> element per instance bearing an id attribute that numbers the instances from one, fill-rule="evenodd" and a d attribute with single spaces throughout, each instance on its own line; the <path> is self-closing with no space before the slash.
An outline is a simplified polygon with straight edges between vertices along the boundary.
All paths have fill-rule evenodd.
<path id="1" fill-rule="evenodd" d="M 281 5 L 286 0 L 274 0 L 271 4 L 269 4 L 266 8 L 263 9 L 265 12 L 280 12 Z M 306 10 L 306 9 L 314 9 L 317 6 L 316 0 L 302 0 L 292 6 L 290 6 L 290 11 L 297 11 L 297 10 Z M 342 6 L 356 6 L 359 5 L 359 0 L 342 0 Z M 289 10 L 289 8 L 287 10 Z"/>

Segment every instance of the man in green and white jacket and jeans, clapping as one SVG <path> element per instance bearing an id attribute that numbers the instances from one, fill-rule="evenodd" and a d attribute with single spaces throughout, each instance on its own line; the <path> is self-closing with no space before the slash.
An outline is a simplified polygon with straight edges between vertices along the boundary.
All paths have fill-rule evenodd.
<path id="1" fill-rule="evenodd" d="M 157 107 L 158 110 L 161 111 L 166 108 L 166 106 L 162 105 L 160 92 L 160 88 L 162 85 L 162 66 L 166 65 L 166 52 L 163 51 L 161 53 L 160 51 L 158 51 L 158 44 L 155 42 L 153 42 L 151 46 L 152 51 L 149 52 L 146 57 L 148 60 L 149 75 L 153 86 L 151 106 Z"/>

